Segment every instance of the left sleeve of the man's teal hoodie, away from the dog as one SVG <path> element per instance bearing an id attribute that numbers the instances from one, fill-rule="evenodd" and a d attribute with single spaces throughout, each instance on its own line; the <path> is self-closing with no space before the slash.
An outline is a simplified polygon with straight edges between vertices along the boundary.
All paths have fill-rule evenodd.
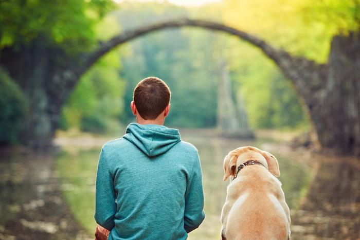
<path id="1" fill-rule="evenodd" d="M 95 220 L 100 226 L 112 230 L 115 213 L 114 180 L 107 165 L 105 151 L 102 149 L 96 174 Z"/>

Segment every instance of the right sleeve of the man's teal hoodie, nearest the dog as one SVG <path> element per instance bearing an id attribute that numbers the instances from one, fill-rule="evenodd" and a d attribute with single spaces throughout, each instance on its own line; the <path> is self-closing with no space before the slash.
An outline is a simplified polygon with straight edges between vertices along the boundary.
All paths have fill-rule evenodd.
<path id="1" fill-rule="evenodd" d="M 205 218 L 204 191 L 199 154 L 196 152 L 192 174 L 185 193 L 184 228 L 187 233 L 198 228 Z"/>

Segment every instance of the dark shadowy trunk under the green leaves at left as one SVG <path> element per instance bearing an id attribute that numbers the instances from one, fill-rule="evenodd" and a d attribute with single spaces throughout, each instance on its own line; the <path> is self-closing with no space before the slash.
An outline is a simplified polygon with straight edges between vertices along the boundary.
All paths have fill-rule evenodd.
<path id="1" fill-rule="evenodd" d="M 34 149 L 52 146 L 61 107 L 77 79 L 60 64 L 62 56 L 42 41 L 2 50 L 0 64 L 22 88 L 27 104 L 20 141 Z"/>

